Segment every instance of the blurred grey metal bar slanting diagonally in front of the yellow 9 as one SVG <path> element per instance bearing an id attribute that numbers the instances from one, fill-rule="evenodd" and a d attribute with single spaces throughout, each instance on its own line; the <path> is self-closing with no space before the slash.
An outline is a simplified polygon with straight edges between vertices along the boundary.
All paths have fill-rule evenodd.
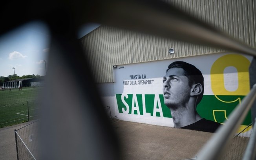
<path id="1" fill-rule="evenodd" d="M 245 96 L 241 105 L 237 106 L 229 116 L 229 120 L 225 121 L 225 125 L 219 127 L 216 134 L 207 142 L 199 151 L 198 160 L 218 160 L 222 156 L 226 147 L 230 144 L 232 137 L 236 133 L 238 127 L 245 119 L 248 111 L 251 109 L 256 99 L 256 85 L 252 87 L 250 93 Z"/>

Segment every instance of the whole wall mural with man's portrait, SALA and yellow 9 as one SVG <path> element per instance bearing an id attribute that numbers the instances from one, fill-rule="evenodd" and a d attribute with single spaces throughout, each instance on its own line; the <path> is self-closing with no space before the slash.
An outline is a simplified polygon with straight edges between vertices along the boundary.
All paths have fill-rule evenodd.
<path id="1" fill-rule="evenodd" d="M 215 132 L 250 91 L 252 57 L 230 53 L 117 67 L 120 120 Z M 251 123 L 251 113 L 240 130 Z M 239 132 L 239 131 L 238 131 Z"/>

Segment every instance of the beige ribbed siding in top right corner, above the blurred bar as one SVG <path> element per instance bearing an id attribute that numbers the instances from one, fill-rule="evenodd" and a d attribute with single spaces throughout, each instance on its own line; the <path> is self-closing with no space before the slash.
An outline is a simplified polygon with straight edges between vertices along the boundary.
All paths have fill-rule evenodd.
<path id="1" fill-rule="evenodd" d="M 165 0 L 228 35 L 255 44 L 255 0 Z"/>

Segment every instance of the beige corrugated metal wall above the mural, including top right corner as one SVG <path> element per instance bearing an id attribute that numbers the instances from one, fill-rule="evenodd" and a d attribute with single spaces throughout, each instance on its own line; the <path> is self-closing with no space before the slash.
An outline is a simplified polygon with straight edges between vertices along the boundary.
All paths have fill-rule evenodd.
<path id="1" fill-rule="evenodd" d="M 256 47 L 254 0 L 165 0 L 251 47 Z M 80 39 L 95 81 L 114 82 L 113 65 L 218 53 L 223 50 L 102 25 Z M 174 47 L 175 54 L 168 49 Z"/>

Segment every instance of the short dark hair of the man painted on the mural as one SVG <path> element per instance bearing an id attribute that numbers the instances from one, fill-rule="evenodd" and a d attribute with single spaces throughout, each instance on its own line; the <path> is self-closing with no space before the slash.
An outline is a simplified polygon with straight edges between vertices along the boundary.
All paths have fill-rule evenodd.
<path id="1" fill-rule="evenodd" d="M 172 62 L 170 65 L 168 65 L 168 69 L 166 72 L 171 68 L 182 68 L 185 73 L 184 75 L 188 77 L 188 85 L 192 87 L 193 84 L 201 84 L 203 89 L 202 93 L 198 96 L 197 104 L 202 100 L 203 98 L 203 91 L 204 91 L 204 85 L 203 85 L 203 75 L 199 69 L 197 69 L 194 65 L 189 64 L 187 62 L 183 61 L 176 61 Z"/>

